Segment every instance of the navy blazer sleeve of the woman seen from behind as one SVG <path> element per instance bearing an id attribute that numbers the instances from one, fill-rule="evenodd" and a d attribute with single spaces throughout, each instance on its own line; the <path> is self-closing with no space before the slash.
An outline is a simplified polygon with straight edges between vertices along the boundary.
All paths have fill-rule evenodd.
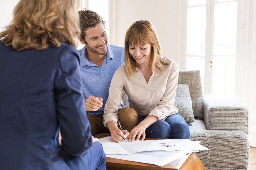
<path id="1" fill-rule="evenodd" d="M 76 48 L 66 46 L 60 54 L 54 81 L 62 149 L 73 156 L 85 154 L 92 146 L 91 127 L 82 95 L 79 57 Z"/>

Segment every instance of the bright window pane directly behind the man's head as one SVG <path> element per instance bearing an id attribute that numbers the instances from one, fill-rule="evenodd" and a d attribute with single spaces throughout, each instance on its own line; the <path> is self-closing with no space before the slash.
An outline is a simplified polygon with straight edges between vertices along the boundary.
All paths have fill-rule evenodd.
<path id="1" fill-rule="evenodd" d="M 88 9 L 97 12 L 106 22 L 106 33 L 109 36 L 109 1 L 108 0 L 89 0 Z"/>

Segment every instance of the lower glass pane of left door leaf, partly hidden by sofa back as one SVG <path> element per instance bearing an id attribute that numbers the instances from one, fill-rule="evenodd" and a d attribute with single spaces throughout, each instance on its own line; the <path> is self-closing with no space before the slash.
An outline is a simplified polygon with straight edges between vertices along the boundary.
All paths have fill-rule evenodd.
<path id="1" fill-rule="evenodd" d="M 202 91 L 204 93 L 205 82 L 205 57 L 187 57 L 188 70 L 200 70 Z"/>

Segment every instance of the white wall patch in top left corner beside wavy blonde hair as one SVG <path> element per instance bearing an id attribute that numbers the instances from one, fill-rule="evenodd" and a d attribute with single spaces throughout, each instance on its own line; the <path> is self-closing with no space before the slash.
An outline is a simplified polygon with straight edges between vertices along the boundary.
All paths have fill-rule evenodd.
<path id="1" fill-rule="evenodd" d="M 19 0 L 0 1 L 0 32 L 13 19 L 13 9 Z"/>

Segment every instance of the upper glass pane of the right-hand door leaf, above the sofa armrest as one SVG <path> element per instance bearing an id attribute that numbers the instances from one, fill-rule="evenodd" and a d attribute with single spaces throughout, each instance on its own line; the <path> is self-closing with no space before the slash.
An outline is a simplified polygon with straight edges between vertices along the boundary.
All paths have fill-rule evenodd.
<path id="1" fill-rule="evenodd" d="M 214 55 L 236 55 L 237 2 L 215 4 Z"/>

